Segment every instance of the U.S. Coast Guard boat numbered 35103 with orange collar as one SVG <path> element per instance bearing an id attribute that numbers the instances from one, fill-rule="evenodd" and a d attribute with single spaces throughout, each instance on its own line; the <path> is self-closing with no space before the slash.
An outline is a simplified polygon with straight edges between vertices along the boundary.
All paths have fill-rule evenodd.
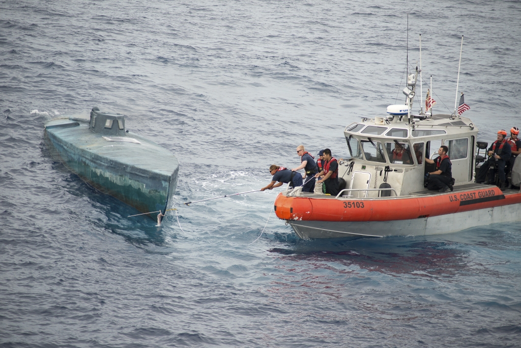
<path id="1" fill-rule="evenodd" d="M 277 196 L 277 217 L 301 238 L 441 234 L 521 220 L 518 190 L 474 183 L 478 128 L 469 118 L 411 113 L 417 77 L 417 68 L 407 77 L 406 105 L 345 127 L 351 158 L 339 162 L 346 184 L 336 197 L 301 188 Z M 442 145 L 455 184 L 440 193 L 424 188 L 425 174 L 436 170 L 424 158 L 435 159 Z"/>

